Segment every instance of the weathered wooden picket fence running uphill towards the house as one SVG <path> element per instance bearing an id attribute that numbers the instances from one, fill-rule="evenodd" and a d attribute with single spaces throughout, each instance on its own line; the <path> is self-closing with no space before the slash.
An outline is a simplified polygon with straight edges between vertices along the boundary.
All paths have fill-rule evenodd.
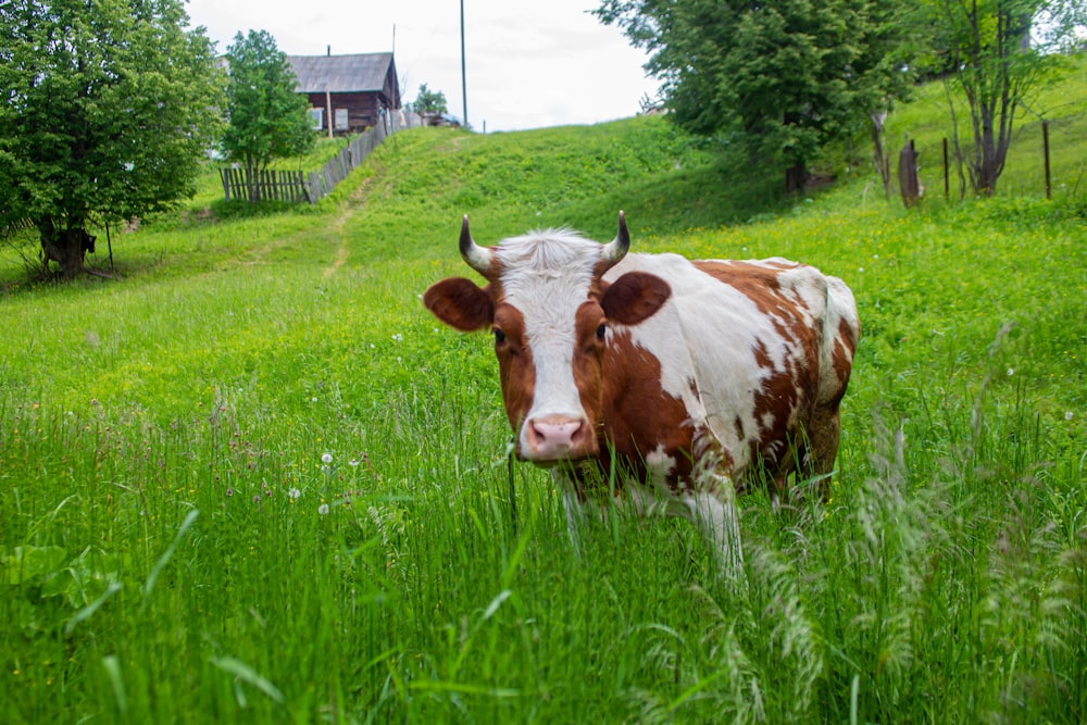
<path id="1" fill-rule="evenodd" d="M 383 123 L 367 128 L 340 150 L 318 171 L 264 171 L 250 179 L 243 168 L 221 168 L 223 193 L 230 199 L 250 201 L 309 201 L 316 203 L 332 193 L 351 171 L 361 164 L 390 134 L 414 128 L 422 120 L 414 113 L 391 113 Z"/>

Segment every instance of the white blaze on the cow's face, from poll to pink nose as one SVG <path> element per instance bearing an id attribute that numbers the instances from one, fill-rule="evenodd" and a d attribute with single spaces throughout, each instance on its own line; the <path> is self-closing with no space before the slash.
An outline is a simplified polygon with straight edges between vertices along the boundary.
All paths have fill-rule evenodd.
<path id="1" fill-rule="evenodd" d="M 505 239 L 495 250 L 505 301 L 524 318 L 535 365 L 535 393 L 518 432 L 525 458 L 564 458 L 575 443 L 571 436 L 589 425 L 574 382 L 574 325 L 600 250 L 595 241 L 553 229 Z"/>

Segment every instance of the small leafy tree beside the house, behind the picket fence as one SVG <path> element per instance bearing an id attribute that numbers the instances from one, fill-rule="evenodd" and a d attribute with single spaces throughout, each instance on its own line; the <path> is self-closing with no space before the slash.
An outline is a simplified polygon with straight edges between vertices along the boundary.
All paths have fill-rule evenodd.
<path id="1" fill-rule="evenodd" d="M 258 172 L 275 159 L 304 153 L 313 146 L 310 102 L 296 90 L 298 78 L 290 62 L 266 30 L 238 33 L 226 60 L 229 126 L 223 134 L 223 150 L 245 166 L 249 198 L 255 201 Z"/>

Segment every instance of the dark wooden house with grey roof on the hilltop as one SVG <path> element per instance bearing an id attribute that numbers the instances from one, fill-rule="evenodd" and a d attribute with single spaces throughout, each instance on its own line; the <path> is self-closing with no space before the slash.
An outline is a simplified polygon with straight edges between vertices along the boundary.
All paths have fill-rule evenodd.
<path id="1" fill-rule="evenodd" d="M 298 92 L 310 99 L 314 128 L 355 134 L 400 110 L 400 83 L 392 53 L 288 55 Z M 329 127 L 329 122 L 332 127 Z"/>

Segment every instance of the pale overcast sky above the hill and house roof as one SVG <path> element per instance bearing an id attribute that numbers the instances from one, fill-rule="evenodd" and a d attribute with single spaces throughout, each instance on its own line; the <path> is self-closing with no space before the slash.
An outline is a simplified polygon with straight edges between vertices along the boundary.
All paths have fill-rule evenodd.
<path id="1" fill-rule="evenodd" d="M 467 117 L 476 130 L 592 124 L 636 115 L 658 85 L 646 55 L 588 11 L 595 0 L 464 0 Z M 288 55 L 395 51 L 400 93 L 440 90 L 464 113 L 460 0 L 189 0 L 193 26 L 225 52 L 267 30 Z"/>

